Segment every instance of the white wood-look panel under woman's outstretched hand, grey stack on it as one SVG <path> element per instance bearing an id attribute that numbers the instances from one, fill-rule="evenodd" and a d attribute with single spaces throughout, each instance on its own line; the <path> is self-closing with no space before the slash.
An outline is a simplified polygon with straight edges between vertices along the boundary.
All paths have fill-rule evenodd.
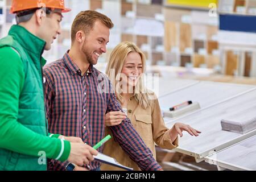
<path id="1" fill-rule="evenodd" d="M 231 91 L 231 90 L 229 90 Z M 211 90 L 209 89 L 209 92 Z M 228 92 L 226 90 L 225 92 Z M 225 94 L 216 93 L 217 94 Z M 215 97 L 212 96 L 212 97 Z M 196 113 L 187 115 L 186 117 L 175 119 L 172 122 L 167 121 L 167 127 L 172 127 L 175 122 L 187 123 L 195 127 L 202 133 L 199 137 L 192 137 L 184 132 L 183 137 L 179 140 L 179 150 L 189 151 L 193 154 L 200 155 L 202 158 L 212 152 L 212 150 L 220 151 L 221 147 L 231 145 L 232 141 L 247 134 L 238 134 L 230 131 L 223 131 L 221 129 L 221 119 L 236 117 L 239 119 L 250 119 L 255 117 L 256 110 L 256 90 L 242 94 L 241 96 L 232 98 L 231 100 L 214 105 L 207 109 L 202 109 Z M 256 130 L 251 132 L 255 135 Z M 251 137 L 251 136 L 250 136 Z"/>

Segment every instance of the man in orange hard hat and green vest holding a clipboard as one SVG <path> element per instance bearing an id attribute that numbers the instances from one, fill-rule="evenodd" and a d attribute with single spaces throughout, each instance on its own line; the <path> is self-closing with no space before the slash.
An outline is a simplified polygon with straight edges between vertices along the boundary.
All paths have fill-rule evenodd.
<path id="1" fill-rule="evenodd" d="M 0 39 L 0 171 L 46 170 L 47 158 L 83 166 L 97 155 L 80 138 L 48 133 L 42 53 L 68 11 L 63 0 L 13 0 L 17 24 Z"/>

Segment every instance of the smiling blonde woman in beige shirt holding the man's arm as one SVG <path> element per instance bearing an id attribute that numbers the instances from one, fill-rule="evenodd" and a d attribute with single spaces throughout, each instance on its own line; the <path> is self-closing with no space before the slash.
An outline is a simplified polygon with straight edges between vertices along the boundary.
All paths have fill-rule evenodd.
<path id="1" fill-rule="evenodd" d="M 110 55 L 106 75 L 112 81 L 115 95 L 123 111 L 127 111 L 127 117 L 135 130 L 156 158 L 155 143 L 162 148 L 173 149 L 178 146 L 178 135 L 182 137 L 182 131 L 195 136 L 198 136 L 200 131 L 183 123 L 175 123 L 171 129 L 164 125 L 157 98 L 143 85 L 142 75 L 145 67 L 145 56 L 142 51 L 131 42 L 122 42 Z M 126 114 L 115 111 L 105 115 L 106 135 L 112 135 L 108 126 L 119 125 L 126 118 Z M 113 137 L 105 143 L 104 154 L 112 156 L 120 164 L 140 170 Z M 120 170 L 120 168 L 102 164 L 101 170 Z"/>

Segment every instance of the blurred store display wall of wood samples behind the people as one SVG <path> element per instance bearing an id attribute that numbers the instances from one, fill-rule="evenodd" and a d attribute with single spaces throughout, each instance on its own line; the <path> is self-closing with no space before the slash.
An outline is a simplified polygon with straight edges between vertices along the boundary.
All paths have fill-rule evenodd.
<path id="1" fill-rule="evenodd" d="M 256 77 L 255 0 L 67 0 L 71 12 L 61 22 L 62 33 L 50 51 L 47 63 L 59 59 L 70 47 L 71 24 L 82 10 L 96 10 L 114 23 L 108 51 L 99 59 L 108 61 L 122 41 L 138 45 L 147 65 L 208 68 L 219 74 Z M 210 15 L 216 5 L 217 14 Z M 15 23 L 9 14 L 11 0 L 0 0 L 0 35 Z M 225 22 L 228 18 L 228 22 Z M 230 19 L 236 23 L 230 23 Z M 244 26 L 241 26 L 241 23 Z M 247 22 L 247 23 L 246 23 Z M 224 26 L 223 26 L 224 25 Z M 234 26 L 241 30 L 234 29 Z M 249 28 L 250 31 L 246 31 Z"/>

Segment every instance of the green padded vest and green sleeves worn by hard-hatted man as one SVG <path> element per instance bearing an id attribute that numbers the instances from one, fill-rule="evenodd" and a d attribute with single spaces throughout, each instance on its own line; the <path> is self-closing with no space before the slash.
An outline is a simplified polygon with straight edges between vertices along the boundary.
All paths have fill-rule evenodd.
<path id="1" fill-rule="evenodd" d="M 0 39 L 0 171 L 46 170 L 46 158 L 68 159 L 70 142 L 47 132 L 42 81 L 45 44 L 18 25 Z"/>

